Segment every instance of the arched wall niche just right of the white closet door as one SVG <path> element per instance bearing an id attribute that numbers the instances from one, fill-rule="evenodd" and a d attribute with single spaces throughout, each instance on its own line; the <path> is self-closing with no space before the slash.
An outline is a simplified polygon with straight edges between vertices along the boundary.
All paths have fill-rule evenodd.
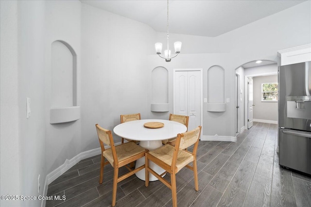
<path id="1" fill-rule="evenodd" d="M 219 65 L 207 69 L 207 111 L 225 111 L 225 69 Z"/>

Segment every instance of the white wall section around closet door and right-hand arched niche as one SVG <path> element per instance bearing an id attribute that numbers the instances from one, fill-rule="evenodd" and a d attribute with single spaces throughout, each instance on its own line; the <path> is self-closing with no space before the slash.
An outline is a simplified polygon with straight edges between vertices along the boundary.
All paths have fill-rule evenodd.
<path id="1" fill-rule="evenodd" d="M 213 65 L 220 65 L 225 69 L 225 84 L 235 85 L 235 79 L 230 80 L 231 76 L 235 77 L 235 71 L 229 71 L 229 62 L 224 63 L 223 59 L 228 60 L 229 56 L 225 53 L 213 53 L 213 54 L 180 54 L 171 62 L 167 63 L 165 60 L 152 55 L 150 56 L 149 71 L 151 73 L 152 69 L 156 66 L 163 66 L 169 71 L 169 104 L 170 111 L 163 112 L 164 117 L 168 117 L 169 113 L 173 113 L 173 69 L 183 69 L 183 68 L 203 68 L 203 98 L 207 98 L 207 70 Z M 151 78 L 150 78 L 151 80 Z M 233 87 L 234 89 L 234 87 Z M 233 136 L 234 127 L 234 104 L 235 96 L 230 96 L 231 87 L 225 87 L 225 98 L 230 98 L 230 103 L 226 104 L 225 112 L 208 112 L 207 105 L 203 104 L 203 135 L 215 135 L 220 136 Z M 231 118 L 228 118 L 231 117 Z M 227 127 L 222 127 L 222 126 Z"/>

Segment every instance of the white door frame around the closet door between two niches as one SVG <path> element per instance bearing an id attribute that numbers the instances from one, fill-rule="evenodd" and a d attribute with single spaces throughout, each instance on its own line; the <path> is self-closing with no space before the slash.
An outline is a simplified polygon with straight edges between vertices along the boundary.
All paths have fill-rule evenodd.
<path id="1" fill-rule="evenodd" d="M 201 86 L 200 86 L 200 89 L 201 89 L 201 97 L 200 97 L 200 125 L 202 126 L 202 129 L 201 129 L 201 137 L 202 137 L 202 134 L 203 134 L 203 68 L 179 68 L 179 69 L 176 69 L 174 68 L 173 69 L 173 103 L 175 103 L 175 73 L 176 71 L 200 71 L 200 76 L 201 76 Z M 174 107 L 174 104 L 173 104 L 173 113 L 175 113 L 175 107 Z"/>

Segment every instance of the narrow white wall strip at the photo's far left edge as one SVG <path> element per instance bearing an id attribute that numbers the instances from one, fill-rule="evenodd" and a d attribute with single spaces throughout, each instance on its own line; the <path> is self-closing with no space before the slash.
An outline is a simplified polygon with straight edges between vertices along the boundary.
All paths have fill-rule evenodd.
<path id="1" fill-rule="evenodd" d="M 0 1 L 0 193 L 20 195 L 17 1 Z M 0 206 L 20 206 L 20 201 L 0 201 Z"/>

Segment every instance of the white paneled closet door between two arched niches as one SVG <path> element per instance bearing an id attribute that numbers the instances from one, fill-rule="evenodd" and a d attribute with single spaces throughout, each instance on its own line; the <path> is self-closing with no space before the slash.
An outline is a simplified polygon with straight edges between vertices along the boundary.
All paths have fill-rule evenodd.
<path id="1" fill-rule="evenodd" d="M 174 112 L 188 115 L 188 131 L 201 125 L 201 71 L 175 71 Z"/>

